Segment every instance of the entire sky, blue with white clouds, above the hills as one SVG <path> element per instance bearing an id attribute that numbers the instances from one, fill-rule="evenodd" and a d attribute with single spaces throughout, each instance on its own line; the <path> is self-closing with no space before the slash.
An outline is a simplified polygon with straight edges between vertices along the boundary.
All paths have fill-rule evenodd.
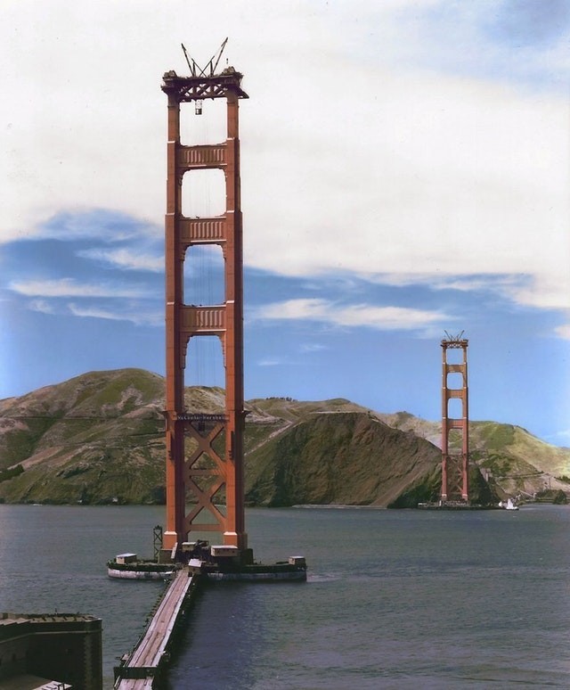
<path id="1" fill-rule="evenodd" d="M 245 395 L 469 416 L 570 446 L 569 0 L 4 0 L 0 398 L 165 372 L 162 75 L 244 74 Z M 183 143 L 225 137 L 223 103 Z M 224 210 L 219 171 L 183 212 Z M 191 249 L 187 303 L 222 300 Z M 195 341 L 195 342 L 194 342 Z M 223 385 L 194 338 L 186 382 Z"/>

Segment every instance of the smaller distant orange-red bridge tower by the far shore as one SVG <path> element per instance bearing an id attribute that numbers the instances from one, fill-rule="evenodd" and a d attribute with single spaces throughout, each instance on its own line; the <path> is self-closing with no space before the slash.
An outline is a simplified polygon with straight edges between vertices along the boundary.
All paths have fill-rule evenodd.
<path id="1" fill-rule="evenodd" d="M 469 418 L 468 418 L 468 378 L 467 349 L 469 341 L 445 333 L 441 342 L 443 355 L 442 381 L 442 494 L 445 501 L 469 500 Z M 459 353 L 459 357 L 449 353 Z M 449 357 L 448 357 L 449 355 Z M 452 361 L 453 360 L 453 361 Z M 459 361 L 458 361 L 459 360 Z M 452 377 L 450 377 L 452 374 Z M 450 380 L 450 379 L 453 380 Z M 460 416 L 450 416 L 450 400 L 459 399 Z M 451 451 L 450 435 L 456 431 L 460 435 L 459 451 Z"/>

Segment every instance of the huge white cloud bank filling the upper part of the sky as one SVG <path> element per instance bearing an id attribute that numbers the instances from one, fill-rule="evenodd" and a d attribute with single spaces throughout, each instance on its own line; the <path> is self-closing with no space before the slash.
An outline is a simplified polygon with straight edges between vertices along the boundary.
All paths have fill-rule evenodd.
<path id="1" fill-rule="evenodd" d="M 569 307 L 566 96 L 523 90 L 522 68 L 509 72 L 524 58 L 525 73 L 567 75 L 568 57 L 559 41 L 513 53 L 484 40 L 496 5 L 8 4 L 0 236 L 94 206 L 160 225 L 161 75 L 183 72 L 181 41 L 205 62 L 230 35 L 225 54 L 250 95 L 240 121 L 249 266 L 528 275 L 513 300 Z"/>

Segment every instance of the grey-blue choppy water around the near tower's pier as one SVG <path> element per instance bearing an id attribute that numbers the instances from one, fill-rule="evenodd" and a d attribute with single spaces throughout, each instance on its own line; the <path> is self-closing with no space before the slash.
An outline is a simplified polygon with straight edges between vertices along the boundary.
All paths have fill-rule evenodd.
<path id="1" fill-rule="evenodd" d="M 0 505 L 0 610 L 102 617 L 106 687 L 163 585 L 107 578 L 150 555 L 155 506 Z M 570 687 L 570 506 L 518 512 L 251 509 L 250 546 L 306 583 L 204 589 L 169 687 Z"/>

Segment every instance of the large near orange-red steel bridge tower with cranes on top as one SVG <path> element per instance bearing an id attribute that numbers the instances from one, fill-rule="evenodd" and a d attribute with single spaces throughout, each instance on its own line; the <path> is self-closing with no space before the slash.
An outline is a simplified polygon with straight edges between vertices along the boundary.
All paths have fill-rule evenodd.
<path id="1" fill-rule="evenodd" d="M 226 39 L 227 41 L 227 39 Z M 166 213 L 166 441 L 167 525 L 162 546 L 172 549 L 191 531 L 223 534 L 225 546 L 245 551 L 243 488 L 243 279 L 240 209 L 240 139 L 238 104 L 248 98 L 240 86 L 242 74 L 232 67 L 216 73 L 224 44 L 205 69 L 189 59 L 191 74 L 164 75 L 167 94 L 167 213 Z M 180 136 L 181 105 L 193 103 L 201 114 L 205 99 L 225 99 L 227 136 L 208 145 L 184 145 Z M 205 116 L 202 116 L 205 117 Z M 212 218 L 183 216 L 183 177 L 193 171 L 224 171 L 225 210 Z M 224 301 L 195 305 L 183 294 L 186 252 L 195 245 L 217 245 L 224 257 Z M 188 252 L 188 261 L 191 252 Z M 187 300 L 185 298 L 188 298 Z M 184 369 L 191 338 L 217 336 L 225 372 L 225 410 L 221 415 L 192 415 L 184 405 Z M 225 508 L 223 503 L 225 491 Z M 216 497 L 217 495 L 217 497 Z M 190 505 L 186 513 L 186 501 Z"/>

